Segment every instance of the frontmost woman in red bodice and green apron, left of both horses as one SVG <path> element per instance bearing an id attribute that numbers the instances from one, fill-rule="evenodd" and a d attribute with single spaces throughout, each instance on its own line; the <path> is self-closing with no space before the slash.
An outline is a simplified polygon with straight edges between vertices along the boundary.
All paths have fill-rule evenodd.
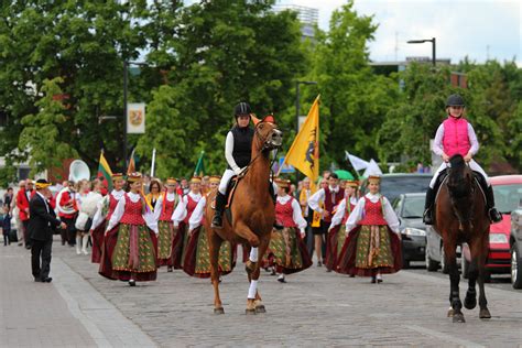
<path id="1" fill-rule="evenodd" d="M 142 196 L 141 174 L 132 173 L 127 181 L 130 192 L 110 217 L 99 273 L 135 286 L 156 279 L 157 222 Z"/>

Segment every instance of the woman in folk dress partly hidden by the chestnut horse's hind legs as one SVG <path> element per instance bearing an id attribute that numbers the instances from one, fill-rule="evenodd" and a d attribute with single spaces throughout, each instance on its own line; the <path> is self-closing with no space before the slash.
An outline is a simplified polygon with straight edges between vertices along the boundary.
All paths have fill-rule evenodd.
<path id="1" fill-rule="evenodd" d="M 210 278 L 210 251 L 208 238 L 203 226 L 205 205 L 211 192 L 218 189 L 221 177 L 213 175 L 208 180 L 208 193 L 203 195 L 188 220 L 188 243 L 183 262 L 183 270 L 191 276 Z M 236 248 L 229 241 L 224 241 L 219 249 L 219 273 L 226 275 L 236 265 Z"/>

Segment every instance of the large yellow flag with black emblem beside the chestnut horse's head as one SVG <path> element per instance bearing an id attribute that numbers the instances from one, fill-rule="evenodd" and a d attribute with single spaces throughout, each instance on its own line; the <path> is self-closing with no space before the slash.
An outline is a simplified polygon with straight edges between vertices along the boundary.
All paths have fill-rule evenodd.
<path id="1" fill-rule="evenodd" d="M 312 183 L 319 176 L 319 97 L 315 98 L 303 128 L 284 159 L 284 163 L 293 165 Z"/>

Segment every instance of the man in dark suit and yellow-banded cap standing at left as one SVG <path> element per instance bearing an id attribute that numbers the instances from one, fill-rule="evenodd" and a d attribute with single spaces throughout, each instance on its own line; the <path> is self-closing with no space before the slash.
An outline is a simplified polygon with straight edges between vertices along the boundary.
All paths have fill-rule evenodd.
<path id="1" fill-rule="evenodd" d="M 31 268 L 35 282 L 51 283 L 53 280 L 48 276 L 51 270 L 51 248 L 53 246 L 53 230 L 56 226 L 65 228 L 65 224 L 61 222 L 53 208 L 47 203 L 51 191 L 46 180 L 36 181 L 36 194 L 29 203 L 29 236 L 31 238 Z M 42 258 L 42 267 L 40 267 L 40 258 Z"/>

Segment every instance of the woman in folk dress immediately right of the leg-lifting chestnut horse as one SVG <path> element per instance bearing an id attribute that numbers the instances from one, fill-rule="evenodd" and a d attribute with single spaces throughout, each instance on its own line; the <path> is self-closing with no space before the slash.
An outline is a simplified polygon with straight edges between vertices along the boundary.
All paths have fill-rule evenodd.
<path id="1" fill-rule="evenodd" d="M 283 229 L 273 229 L 264 267 L 274 267 L 278 281 L 286 283 L 285 274 L 297 273 L 312 265 L 312 259 L 303 242 L 306 236 L 306 220 L 297 199 L 290 195 L 289 180 L 276 178 L 278 198 L 275 220 Z"/>

